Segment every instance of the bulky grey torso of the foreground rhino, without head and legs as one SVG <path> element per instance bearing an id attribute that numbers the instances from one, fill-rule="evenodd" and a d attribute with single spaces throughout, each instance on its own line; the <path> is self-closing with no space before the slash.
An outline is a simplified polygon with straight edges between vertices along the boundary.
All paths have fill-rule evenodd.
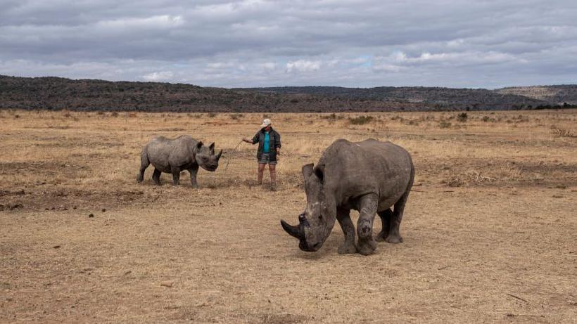
<path id="1" fill-rule="evenodd" d="M 357 143 L 338 140 L 326 149 L 319 164 L 325 165 L 326 183 L 334 188 L 338 200 L 376 193 L 379 209 L 391 207 L 412 181 L 409 153 L 374 139 Z"/>

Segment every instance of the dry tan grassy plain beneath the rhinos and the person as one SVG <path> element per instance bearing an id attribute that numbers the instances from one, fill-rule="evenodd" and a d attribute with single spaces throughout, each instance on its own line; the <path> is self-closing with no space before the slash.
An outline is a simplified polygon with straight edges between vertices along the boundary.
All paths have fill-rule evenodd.
<path id="1" fill-rule="evenodd" d="M 269 114 L 276 192 L 234 152 L 262 117 L 0 111 L 0 322 L 577 323 L 577 110 Z M 219 169 L 136 183 L 141 146 L 180 134 Z M 298 250 L 300 167 L 369 137 L 412 154 L 404 242 L 339 255 L 336 224 Z"/>

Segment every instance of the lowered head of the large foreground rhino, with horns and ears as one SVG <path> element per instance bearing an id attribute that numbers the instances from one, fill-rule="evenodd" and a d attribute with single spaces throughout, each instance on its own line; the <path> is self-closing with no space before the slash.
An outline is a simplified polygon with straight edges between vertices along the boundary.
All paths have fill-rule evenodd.
<path id="1" fill-rule="evenodd" d="M 306 164 L 303 167 L 307 207 L 298 215 L 298 225 L 292 226 L 281 220 L 281 226 L 300 241 L 300 250 L 314 252 L 319 250 L 329 237 L 336 219 L 334 195 L 324 186 L 324 166 Z"/>

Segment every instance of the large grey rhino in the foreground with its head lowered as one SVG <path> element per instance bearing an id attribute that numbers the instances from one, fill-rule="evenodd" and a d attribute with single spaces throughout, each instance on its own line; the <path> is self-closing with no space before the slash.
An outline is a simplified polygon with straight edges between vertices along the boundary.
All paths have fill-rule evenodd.
<path id="1" fill-rule="evenodd" d="M 402 242 L 399 226 L 414 180 L 414 166 L 405 149 L 374 139 L 357 143 L 339 139 L 326 148 L 316 167 L 312 163 L 303 167 L 303 176 L 307 207 L 297 226 L 281 220 L 284 230 L 300 240 L 300 250 L 319 250 L 337 219 L 345 233 L 338 253 L 372 254 L 375 214 L 383 223 L 377 240 Z M 350 209 L 360 213 L 356 246 Z"/>

